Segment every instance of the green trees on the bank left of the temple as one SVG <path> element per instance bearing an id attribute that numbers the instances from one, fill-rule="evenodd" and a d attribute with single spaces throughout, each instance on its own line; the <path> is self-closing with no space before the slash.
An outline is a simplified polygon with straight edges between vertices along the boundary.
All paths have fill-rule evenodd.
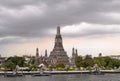
<path id="1" fill-rule="evenodd" d="M 34 57 L 28 57 L 29 60 L 26 60 L 25 57 L 9 57 L 7 60 L 5 60 L 4 64 L 2 65 L 4 68 L 8 68 L 9 70 L 14 70 L 16 68 L 16 65 L 19 67 L 29 67 L 30 69 L 34 68 Z"/>

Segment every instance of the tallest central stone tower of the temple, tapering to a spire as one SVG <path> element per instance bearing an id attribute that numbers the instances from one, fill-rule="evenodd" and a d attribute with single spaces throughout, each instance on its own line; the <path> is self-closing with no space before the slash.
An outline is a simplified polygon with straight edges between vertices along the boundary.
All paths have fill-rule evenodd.
<path id="1" fill-rule="evenodd" d="M 57 27 L 57 34 L 55 37 L 55 44 L 52 52 L 49 56 L 51 64 L 54 65 L 57 62 L 64 63 L 65 65 L 69 63 L 67 53 L 64 51 L 62 44 L 62 36 L 60 34 L 60 26 Z"/>

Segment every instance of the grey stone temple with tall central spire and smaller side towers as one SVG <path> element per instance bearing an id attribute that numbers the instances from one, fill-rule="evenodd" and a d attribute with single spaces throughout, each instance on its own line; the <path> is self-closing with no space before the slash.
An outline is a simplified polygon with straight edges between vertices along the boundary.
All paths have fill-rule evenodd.
<path id="1" fill-rule="evenodd" d="M 50 52 L 49 56 L 47 54 L 47 50 L 45 50 L 45 56 L 39 56 L 39 49 L 36 48 L 35 65 L 44 63 L 46 66 L 49 65 L 54 66 L 57 63 L 63 63 L 64 65 L 74 66 L 75 65 L 74 57 L 77 55 L 77 50 L 76 52 L 74 51 L 75 50 L 72 50 L 72 57 L 70 59 L 63 47 L 62 36 L 60 33 L 60 26 L 57 26 L 57 32 L 55 36 L 55 43 L 53 50 Z"/>

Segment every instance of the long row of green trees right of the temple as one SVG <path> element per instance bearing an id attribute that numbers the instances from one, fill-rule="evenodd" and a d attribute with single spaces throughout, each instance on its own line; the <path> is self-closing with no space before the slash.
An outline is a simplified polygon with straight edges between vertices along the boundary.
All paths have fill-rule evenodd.
<path id="1" fill-rule="evenodd" d="M 87 69 L 92 69 L 92 67 L 97 64 L 100 69 L 117 69 L 120 66 L 120 60 L 111 58 L 109 56 L 94 58 L 91 58 L 89 56 L 86 56 L 85 58 L 83 58 L 82 56 L 76 56 L 75 64 L 77 68 L 83 67 Z"/>

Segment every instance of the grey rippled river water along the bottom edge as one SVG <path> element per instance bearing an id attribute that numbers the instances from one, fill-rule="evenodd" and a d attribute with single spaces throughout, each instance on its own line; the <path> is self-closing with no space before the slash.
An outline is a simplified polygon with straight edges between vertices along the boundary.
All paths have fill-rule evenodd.
<path id="1" fill-rule="evenodd" d="M 89 75 L 89 74 L 59 74 L 51 76 L 4 77 L 0 81 L 120 81 L 120 74 Z"/>

